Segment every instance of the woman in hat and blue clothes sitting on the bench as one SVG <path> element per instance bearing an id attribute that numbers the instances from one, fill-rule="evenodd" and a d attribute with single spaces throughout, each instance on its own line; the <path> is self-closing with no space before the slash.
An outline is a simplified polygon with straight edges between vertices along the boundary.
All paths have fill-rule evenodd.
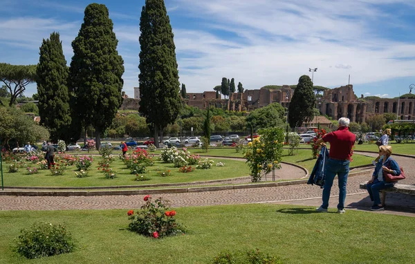
<path id="1" fill-rule="evenodd" d="M 370 208 L 372 211 L 381 211 L 385 209 L 385 205 L 380 203 L 379 191 L 381 189 L 387 189 L 393 187 L 396 182 L 385 182 L 383 179 L 383 172 L 391 173 L 393 175 L 400 175 L 400 169 L 398 162 L 391 158 L 392 147 L 380 146 L 379 155 L 380 159 L 376 163 L 375 171 L 371 180 L 367 182 L 367 191 L 369 191 L 370 200 L 374 202 L 374 205 Z"/>

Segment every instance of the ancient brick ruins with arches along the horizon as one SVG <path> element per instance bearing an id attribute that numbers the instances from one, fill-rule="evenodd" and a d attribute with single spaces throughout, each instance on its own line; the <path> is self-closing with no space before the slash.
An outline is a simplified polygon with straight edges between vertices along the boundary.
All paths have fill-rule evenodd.
<path id="1" fill-rule="evenodd" d="M 216 99 L 215 91 L 203 93 L 187 93 L 187 99 L 183 104 L 206 109 L 209 105 L 228 111 L 252 111 L 268 104 L 279 103 L 288 107 L 294 90 L 284 85 L 282 88 L 260 88 L 246 90 L 243 93 L 231 93 L 229 99 Z M 124 100 L 122 109 L 138 110 L 140 91 L 134 88 L 134 98 Z M 353 92 L 353 85 L 340 86 L 324 91 L 322 97 L 317 100 L 317 108 L 323 115 L 328 115 L 334 120 L 340 117 L 348 117 L 351 122 L 365 122 L 371 115 L 394 113 L 401 120 L 412 120 L 414 116 L 414 100 L 398 98 L 358 98 Z"/>

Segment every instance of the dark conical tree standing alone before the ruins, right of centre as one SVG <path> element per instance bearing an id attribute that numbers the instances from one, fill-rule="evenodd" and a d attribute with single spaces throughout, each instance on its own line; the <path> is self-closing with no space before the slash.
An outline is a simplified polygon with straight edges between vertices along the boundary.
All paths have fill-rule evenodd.
<path id="1" fill-rule="evenodd" d="M 308 75 L 299 77 L 297 88 L 295 88 L 291 99 L 288 113 L 288 122 L 291 127 L 302 126 L 304 122 L 313 120 L 315 108 L 315 95 L 313 82 Z"/>

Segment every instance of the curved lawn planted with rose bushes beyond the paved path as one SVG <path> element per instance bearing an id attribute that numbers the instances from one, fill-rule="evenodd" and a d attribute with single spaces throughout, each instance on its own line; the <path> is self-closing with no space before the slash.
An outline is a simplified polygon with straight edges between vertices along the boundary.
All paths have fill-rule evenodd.
<path id="1" fill-rule="evenodd" d="M 190 173 L 181 173 L 173 164 L 164 164 L 155 162 L 154 166 L 147 167 L 151 180 L 136 181 L 136 176 L 130 173 L 130 170 L 122 163 L 121 160 L 114 160 L 111 163 L 113 171 L 117 172 L 117 178 L 104 178 L 104 173 L 98 171 L 98 161 L 100 158 L 94 157 L 92 166 L 89 169 L 89 177 L 76 178 L 75 166 L 70 166 L 62 176 L 52 176 L 48 170 L 39 170 L 39 173 L 29 175 L 26 168 L 19 169 L 16 173 L 4 173 L 4 185 L 6 186 L 32 186 L 32 187 L 84 187 L 84 186 L 116 186 L 116 185 L 149 185 L 160 183 L 177 183 L 177 182 L 194 182 L 200 180 L 221 180 L 225 178 L 238 178 L 249 175 L 248 166 L 239 160 L 225 160 L 215 158 L 211 169 L 195 169 Z M 225 163 L 224 167 L 216 167 L 216 162 Z M 32 165 L 32 164 L 30 164 Z M 32 166 L 30 166 L 32 167 Z M 34 166 L 35 167 L 35 166 Z M 195 166 L 193 166 L 195 167 Z M 159 171 L 170 170 L 171 176 L 161 177 Z"/>

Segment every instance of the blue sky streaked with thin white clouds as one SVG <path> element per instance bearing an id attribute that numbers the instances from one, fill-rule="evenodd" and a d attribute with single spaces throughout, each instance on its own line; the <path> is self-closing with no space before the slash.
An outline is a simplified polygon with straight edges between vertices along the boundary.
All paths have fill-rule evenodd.
<path id="1" fill-rule="evenodd" d="M 67 64 L 84 19 L 83 0 L 1 0 L 0 62 L 37 64 L 39 46 L 59 32 Z M 138 86 L 140 14 L 145 0 L 97 1 L 109 8 L 123 91 Z M 396 97 L 415 83 L 414 0 L 165 0 L 179 82 L 187 93 L 213 91 L 222 77 L 246 89 L 349 83 L 360 95 Z M 309 68 L 317 68 L 310 73 Z M 26 96 L 36 93 L 28 86 Z M 415 93 L 415 91 L 414 91 Z"/>

